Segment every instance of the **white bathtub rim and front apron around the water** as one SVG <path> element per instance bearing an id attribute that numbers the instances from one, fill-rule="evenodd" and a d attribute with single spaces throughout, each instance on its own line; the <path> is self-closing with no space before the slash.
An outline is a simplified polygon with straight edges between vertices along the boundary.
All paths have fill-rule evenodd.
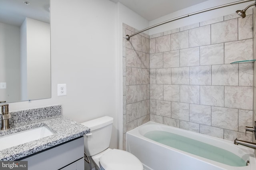
<path id="1" fill-rule="evenodd" d="M 249 160 L 250 164 L 247 166 L 246 163 L 243 166 L 223 164 L 155 142 L 144 136 L 144 134 L 154 130 L 171 132 L 172 134 L 178 134 L 216 146 L 232 152 L 231 154 L 239 156 L 244 162 Z M 134 154 L 142 162 L 145 170 L 256 170 L 256 159 L 252 148 L 154 122 L 148 122 L 126 132 L 126 150 Z"/>

